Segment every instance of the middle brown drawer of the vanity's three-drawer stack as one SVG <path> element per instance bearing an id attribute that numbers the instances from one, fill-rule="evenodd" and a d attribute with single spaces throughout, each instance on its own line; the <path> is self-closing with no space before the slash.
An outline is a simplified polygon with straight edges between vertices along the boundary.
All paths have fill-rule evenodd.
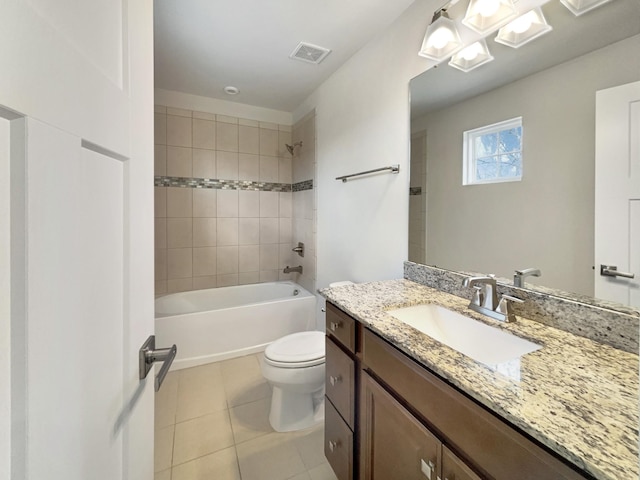
<path id="1" fill-rule="evenodd" d="M 325 391 L 331 403 L 353 429 L 355 364 L 329 337 L 326 337 L 325 342 Z"/>

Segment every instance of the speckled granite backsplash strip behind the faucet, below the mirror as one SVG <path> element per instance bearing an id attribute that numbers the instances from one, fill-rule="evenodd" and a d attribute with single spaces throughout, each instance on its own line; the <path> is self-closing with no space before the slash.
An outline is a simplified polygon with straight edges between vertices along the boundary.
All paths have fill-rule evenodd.
<path id="1" fill-rule="evenodd" d="M 404 277 L 463 298 L 471 298 L 471 291 L 462 286 L 462 280 L 470 274 L 444 270 L 418 263 L 405 262 Z M 625 305 L 604 300 L 589 299 L 557 290 L 536 287 L 535 290 L 508 285 L 507 279 L 498 280 L 498 293 L 513 295 L 525 300 L 514 304 L 513 311 L 574 335 L 606 343 L 630 353 L 638 353 L 640 312 Z"/>

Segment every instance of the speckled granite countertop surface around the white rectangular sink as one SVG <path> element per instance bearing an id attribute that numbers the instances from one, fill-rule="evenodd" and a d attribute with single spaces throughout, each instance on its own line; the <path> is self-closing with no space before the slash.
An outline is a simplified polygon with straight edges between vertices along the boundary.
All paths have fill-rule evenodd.
<path id="1" fill-rule="evenodd" d="M 468 299 L 410 280 L 325 288 L 330 302 L 577 467 L 602 480 L 637 480 L 638 355 L 518 317 L 502 323 Z M 542 345 L 492 369 L 386 310 L 435 303 Z"/>

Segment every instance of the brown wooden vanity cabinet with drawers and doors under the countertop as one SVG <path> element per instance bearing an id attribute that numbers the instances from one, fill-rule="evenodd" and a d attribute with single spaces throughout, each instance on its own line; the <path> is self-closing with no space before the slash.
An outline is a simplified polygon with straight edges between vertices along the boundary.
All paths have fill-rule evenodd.
<path id="1" fill-rule="evenodd" d="M 339 480 L 591 478 L 330 303 L 326 362 L 325 454 Z"/>

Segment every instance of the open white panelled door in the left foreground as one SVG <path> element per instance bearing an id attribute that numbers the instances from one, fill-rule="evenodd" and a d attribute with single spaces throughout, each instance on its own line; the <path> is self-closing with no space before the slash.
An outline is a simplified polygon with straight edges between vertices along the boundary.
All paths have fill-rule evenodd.
<path id="1" fill-rule="evenodd" d="M 153 479 L 152 7 L 0 0 L 0 476 Z"/>

